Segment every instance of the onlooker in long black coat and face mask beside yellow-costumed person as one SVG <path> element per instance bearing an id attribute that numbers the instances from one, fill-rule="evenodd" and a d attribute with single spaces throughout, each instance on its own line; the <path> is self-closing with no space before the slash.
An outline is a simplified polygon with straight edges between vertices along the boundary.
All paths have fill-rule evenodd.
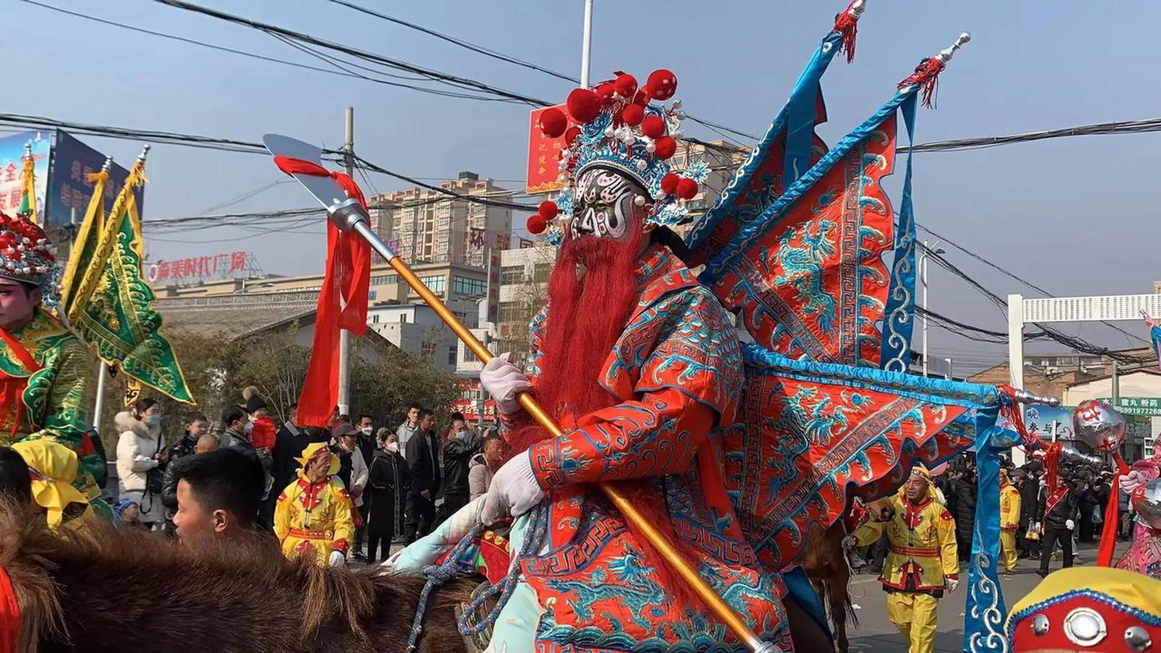
<path id="1" fill-rule="evenodd" d="M 367 561 L 375 564 L 375 554 L 383 545 L 383 560 L 391 553 L 395 533 L 403 532 L 403 497 L 411 476 L 408 462 L 399 453 L 399 436 L 388 429 L 378 430 L 380 447 L 370 462 L 370 511 L 367 522 Z"/>

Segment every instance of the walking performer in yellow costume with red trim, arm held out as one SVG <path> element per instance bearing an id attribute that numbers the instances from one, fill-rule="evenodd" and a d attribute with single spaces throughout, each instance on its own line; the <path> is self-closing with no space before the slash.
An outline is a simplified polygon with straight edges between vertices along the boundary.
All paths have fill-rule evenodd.
<path id="1" fill-rule="evenodd" d="M 864 524 L 848 536 L 848 544 L 868 546 L 887 530 L 890 552 L 879 576 L 887 591 L 887 615 L 908 640 L 910 653 L 931 653 L 939 598 L 959 584 L 956 521 L 936 501 L 923 467 L 911 471 L 890 505 L 895 509 L 890 521 Z"/>

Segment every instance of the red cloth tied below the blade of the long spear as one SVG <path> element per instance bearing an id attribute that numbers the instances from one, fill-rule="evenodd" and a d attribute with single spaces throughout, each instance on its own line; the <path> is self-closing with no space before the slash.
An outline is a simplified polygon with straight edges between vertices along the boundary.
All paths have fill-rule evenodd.
<path id="1" fill-rule="evenodd" d="M 290 157 L 274 157 L 274 165 L 287 174 L 330 177 L 348 198 L 367 208 L 362 191 L 349 175 Z M 304 426 L 325 426 L 339 400 L 339 331 L 355 336 L 367 332 L 367 290 L 370 287 L 370 245 L 358 234 L 327 222 L 326 277 L 318 293 L 315 340 L 311 345 L 307 380 L 298 396 L 296 419 Z"/>

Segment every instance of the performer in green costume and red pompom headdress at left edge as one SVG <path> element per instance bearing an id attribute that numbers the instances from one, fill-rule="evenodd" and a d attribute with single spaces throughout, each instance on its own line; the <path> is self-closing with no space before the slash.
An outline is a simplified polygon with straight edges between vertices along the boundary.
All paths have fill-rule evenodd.
<path id="1" fill-rule="evenodd" d="M 44 231 L 0 214 L 0 445 L 49 438 L 80 459 L 77 489 L 113 518 L 94 474 L 104 457 L 86 433 L 85 346 L 45 306 L 56 302 L 59 268 Z"/>

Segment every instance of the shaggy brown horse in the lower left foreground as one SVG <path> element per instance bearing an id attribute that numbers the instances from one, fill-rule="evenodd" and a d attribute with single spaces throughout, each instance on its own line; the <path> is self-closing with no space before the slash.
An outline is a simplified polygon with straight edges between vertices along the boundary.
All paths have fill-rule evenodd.
<path id="1" fill-rule="evenodd" d="M 286 560 L 265 534 L 193 546 L 103 522 L 49 531 L 42 516 L 3 503 L 0 565 L 20 602 L 22 653 L 49 650 L 38 648 L 45 641 L 73 650 L 71 630 L 84 631 L 82 648 L 98 651 L 91 643 L 100 641 L 100 650 L 115 651 L 115 640 L 128 637 L 121 631 L 130 615 L 159 612 L 172 618 L 164 625 L 154 623 L 160 617 L 132 619 L 139 638 L 134 644 L 163 648 L 176 637 L 167 629 L 181 622 L 183 650 L 222 651 L 225 618 L 231 636 L 252 643 L 246 651 L 395 650 L 405 646 L 424 586 L 423 577 L 381 567 L 330 569 L 312 559 Z M 468 601 L 471 587 L 459 582 L 433 596 L 424 629 L 431 632 L 420 650 L 462 650 L 453 608 Z"/>

